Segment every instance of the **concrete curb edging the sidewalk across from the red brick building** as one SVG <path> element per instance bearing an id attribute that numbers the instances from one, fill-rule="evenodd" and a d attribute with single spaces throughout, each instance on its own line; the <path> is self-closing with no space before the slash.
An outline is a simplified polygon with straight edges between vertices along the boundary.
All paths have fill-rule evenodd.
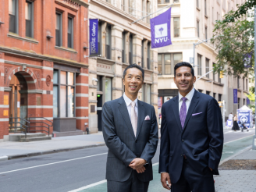
<path id="1" fill-rule="evenodd" d="M 106 144 L 91 144 L 91 145 L 85 145 L 85 146 L 74 147 L 74 148 L 59 148 L 59 149 L 53 149 L 53 150 L 41 151 L 41 152 L 33 152 L 33 153 L 26 153 L 26 154 L 19 154 L 19 155 L 8 155 L 8 156 L 2 156 L 2 157 L 5 157 L 5 158 L 3 158 L 3 160 L 2 160 L 2 157 L 0 157 L 0 161 L 11 160 L 11 159 L 16 159 L 16 158 L 34 157 L 34 156 L 38 156 L 38 155 L 48 155 L 48 154 L 53 154 L 53 153 L 59 153 L 59 152 L 64 152 L 64 151 L 73 151 L 73 150 L 84 149 L 84 148 L 96 148 L 96 147 L 102 147 L 105 145 Z"/>

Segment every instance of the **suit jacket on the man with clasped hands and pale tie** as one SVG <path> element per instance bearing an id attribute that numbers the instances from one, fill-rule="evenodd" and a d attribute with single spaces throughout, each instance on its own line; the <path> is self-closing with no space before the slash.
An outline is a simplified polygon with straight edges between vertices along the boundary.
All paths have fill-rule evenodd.
<path id="1" fill-rule="evenodd" d="M 148 162 L 145 172 L 137 173 L 138 179 L 143 182 L 153 180 L 151 158 L 154 157 L 158 145 L 155 108 L 139 100 L 137 108 L 135 137 L 123 96 L 103 105 L 102 132 L 108 147 L 106 180 L 128 180 L 133 170 L 129 165 L 134 158 L 144 158 Z M 144 120 L 146 116 L 149 116 L 150 120 Z"/>

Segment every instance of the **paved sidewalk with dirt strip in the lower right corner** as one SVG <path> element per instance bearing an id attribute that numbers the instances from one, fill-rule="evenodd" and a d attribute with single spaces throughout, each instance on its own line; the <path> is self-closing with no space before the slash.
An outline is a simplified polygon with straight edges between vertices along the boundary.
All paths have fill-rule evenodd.
<path id="1" fill-rule="evenodd" d="M 256 150 L 250 148 L 219 166 L 215 192 L 256 192 L 255 178 Z"/>

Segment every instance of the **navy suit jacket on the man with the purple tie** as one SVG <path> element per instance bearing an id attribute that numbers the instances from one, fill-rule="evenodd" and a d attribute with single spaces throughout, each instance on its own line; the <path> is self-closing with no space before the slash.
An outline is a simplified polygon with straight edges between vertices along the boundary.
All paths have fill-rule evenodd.
<path id="1" fill-rule="evenodd" d="M 213 174 L 219 175 L 222 148 L 222 115 L 215 98 L 195 90 L 183 129 L 179 96 L 162 105 L 159 173 L 169 172 L 172 183 L 180 179 L 183 155 L 199 174 L 203 175 L 203 170 L 210 167 Z"/>

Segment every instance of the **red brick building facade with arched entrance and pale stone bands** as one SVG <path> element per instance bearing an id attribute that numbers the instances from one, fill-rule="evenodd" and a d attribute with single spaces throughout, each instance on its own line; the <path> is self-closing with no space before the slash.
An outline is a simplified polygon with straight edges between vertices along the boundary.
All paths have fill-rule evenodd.
<path id="1" fill-rule="evenodd" d="M 9 140 L 16 118 L 48 119 L 50 133 L 82 133 L 88 123 L 87 0 L 0 3 L 0 141 Z"/>

